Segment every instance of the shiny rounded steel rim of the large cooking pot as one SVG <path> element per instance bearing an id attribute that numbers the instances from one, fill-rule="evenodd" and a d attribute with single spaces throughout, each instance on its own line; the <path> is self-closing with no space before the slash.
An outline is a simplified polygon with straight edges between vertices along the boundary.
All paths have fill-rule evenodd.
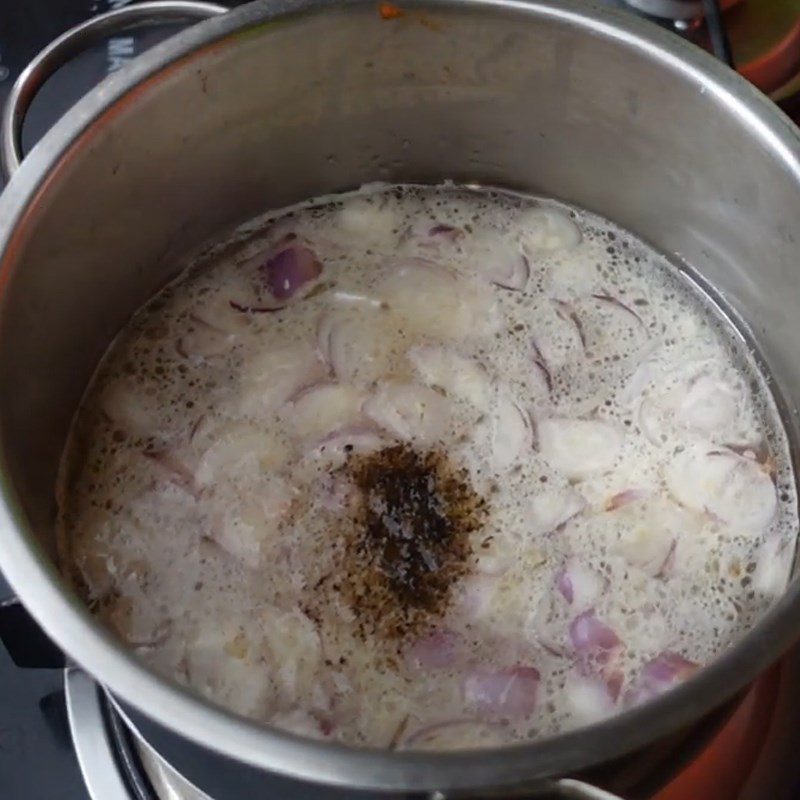
<path id="1" fill-rule="evenodd" d="M 800 131 L 766 97 L 707 53 L 656 26 L 585 0 L 409 0 L 408 8 L 549 18 L 646 53 L 724 104 L 794 174 L 800 192 Z M 0 291 L 34 209 L 65 163 L 80 157 L 104 120 L 173 70 L 276 18 L 374 8 L 371 0 L 259 0 L 156 45 L 81 99 L 25 158 L 0 196 Z M 375 9 L 377 13 L 377 9 Z M 26 533 L 0 442 L 0 569 L 33 617 L 89 673 L 133 708 L 196 744 L 289 777 L 362 789 L 485 788 L 568 774 L 631 752 L 731 698 L 800 635 L 800 582 L 727 653 L 682 686 L 611 719 L 531 743 L 485 751 L 391 752 L 304 739 L 237 717 L 135 660 L 66 589 L 55 565 Z"/>

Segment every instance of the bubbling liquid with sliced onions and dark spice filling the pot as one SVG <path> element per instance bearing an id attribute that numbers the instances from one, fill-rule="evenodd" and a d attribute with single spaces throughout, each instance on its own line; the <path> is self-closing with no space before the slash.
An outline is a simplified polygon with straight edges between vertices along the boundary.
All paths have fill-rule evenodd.
<path id="1" fill-rule="evenodd" d="M 147 664 L 309 736 L 488 746 L 689 677 L 788 579 L 736 332 L 586 212 L 372 186 L 271 213 L 131 320 L 62 560 Z"/>

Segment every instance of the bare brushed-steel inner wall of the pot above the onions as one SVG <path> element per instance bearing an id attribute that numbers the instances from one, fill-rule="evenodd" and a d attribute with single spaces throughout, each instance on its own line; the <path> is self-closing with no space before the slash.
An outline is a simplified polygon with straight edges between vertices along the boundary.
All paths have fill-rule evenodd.
<path id="1" fill-rule="evenodd" d="M 523 7 L 307 13 L 174 63 L 90 126 L 4 256 L 0 434 L 24 514 L 52 553 L 70 419 L 179 256 L 375 180 L 551 195 L 678 254 L 753 326 L 794 410 L 800 168 L 769 136 L 673 57 Z"/>

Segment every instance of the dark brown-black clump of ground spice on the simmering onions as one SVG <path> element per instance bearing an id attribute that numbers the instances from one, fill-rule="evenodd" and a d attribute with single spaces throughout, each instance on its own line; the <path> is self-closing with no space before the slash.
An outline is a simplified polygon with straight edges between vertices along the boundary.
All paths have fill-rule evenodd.
<path id="1" fill-rule="evenodd" d="M 429 628 L 468 571 L 486 501 L 442 450 L 394 445 L 351 457 L 343 471 L 359 490 L 341 581 L 359 633 L 399 639 Z"/>

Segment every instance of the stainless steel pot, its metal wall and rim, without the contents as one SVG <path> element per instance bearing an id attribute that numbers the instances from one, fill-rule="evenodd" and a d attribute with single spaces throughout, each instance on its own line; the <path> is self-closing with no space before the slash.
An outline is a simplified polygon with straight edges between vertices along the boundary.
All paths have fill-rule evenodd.
<path id="1" fill-rule="evenodd" d="M 738 645 L 645 707 L 495 751 L 390 753 L 209 705 L 139 665 L 65 586 L 53 485 L 70 419 L 176 256 L 265 208 L 444 178 L 563 198 L 691 264 L 752 328 L 796 441 L 800 136 L 706 54 L 587 3 L 412 0 L 381 13 L 372 2 L 257 2 L 106 80 L 0 197 L 0 569 L 168 760 L 236 773 L 243 796 L 262 770 L 448 796 L 516 786 L 580 796 L 588 790 L 549 779 L 630 764 L 720 709 L 800 634 L 794 580 Z"/>

